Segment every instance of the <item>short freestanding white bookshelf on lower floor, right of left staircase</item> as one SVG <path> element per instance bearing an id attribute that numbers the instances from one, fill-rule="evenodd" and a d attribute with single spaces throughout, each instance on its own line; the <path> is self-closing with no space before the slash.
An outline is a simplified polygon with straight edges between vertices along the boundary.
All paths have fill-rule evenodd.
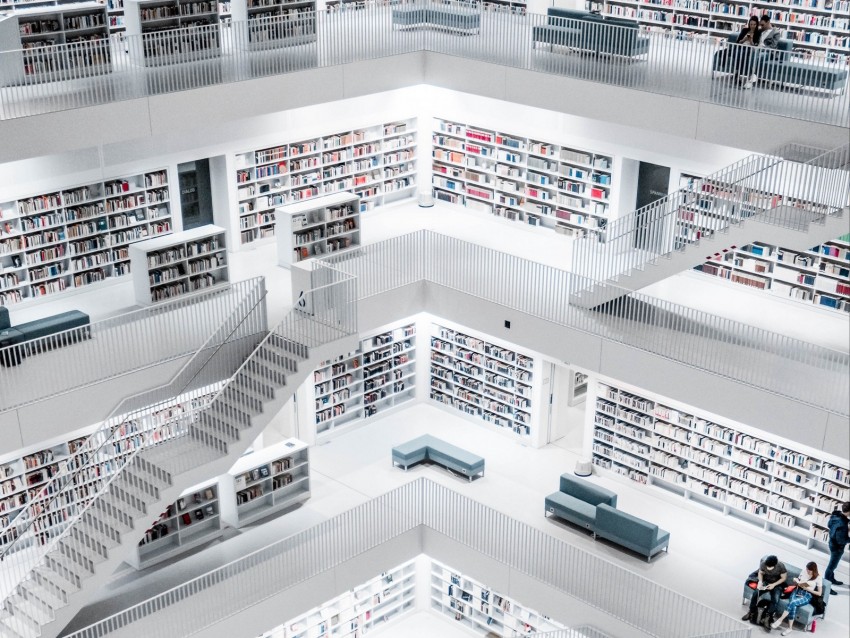
<path id="1" fill-rule="evenodd" d="M 310 498 L 307 444 L 287 439 L 241 457 L 221 480 L 221 516 L 231 527 L 255 523 Z"/>

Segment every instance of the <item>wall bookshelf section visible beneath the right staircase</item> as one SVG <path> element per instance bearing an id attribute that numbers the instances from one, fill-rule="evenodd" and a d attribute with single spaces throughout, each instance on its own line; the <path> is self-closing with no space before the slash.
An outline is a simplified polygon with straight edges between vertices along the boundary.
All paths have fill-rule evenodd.
<path id="1" fill-rule="evenodd" d="M 696 270 L 780 297 L 850 312 L 850 235 L 808 251 L 754 242 L 716 253 Z"/>

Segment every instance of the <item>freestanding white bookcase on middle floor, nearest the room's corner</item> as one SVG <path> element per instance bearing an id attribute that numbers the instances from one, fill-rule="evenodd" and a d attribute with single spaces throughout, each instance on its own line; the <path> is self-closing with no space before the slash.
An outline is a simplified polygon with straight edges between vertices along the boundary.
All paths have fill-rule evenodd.
<path id="1" fill-rule="evenodd" d="M 278 264 L 295 262 L 360 245 L 360 198 L 334 193 L 276 208 Z"/>

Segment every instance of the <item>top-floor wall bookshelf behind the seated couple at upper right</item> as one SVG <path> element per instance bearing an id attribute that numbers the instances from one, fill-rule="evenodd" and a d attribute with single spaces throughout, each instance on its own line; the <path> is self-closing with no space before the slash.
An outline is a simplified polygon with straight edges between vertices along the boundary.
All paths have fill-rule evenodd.
<path id="1" fill-rule="evenodd" d="M 637 20 L 653 31 L 726 39 L 746 26 L 751 15 L 769 15 L 794 50 L 813 58 L 846 64 L 850 53 L 848 0 L 591 0 L 601 13 Z"/>

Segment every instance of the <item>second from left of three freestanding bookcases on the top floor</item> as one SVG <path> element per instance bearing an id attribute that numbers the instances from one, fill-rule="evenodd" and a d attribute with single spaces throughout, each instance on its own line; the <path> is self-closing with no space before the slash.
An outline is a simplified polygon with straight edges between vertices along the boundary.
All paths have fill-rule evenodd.
<path id="1" fill-rule="evenodd" d="M 124 0 L 125 29 L 134 36 L 130 54 L 144 66 L 218 57 L 218 23 L 217 0 Z"/>

